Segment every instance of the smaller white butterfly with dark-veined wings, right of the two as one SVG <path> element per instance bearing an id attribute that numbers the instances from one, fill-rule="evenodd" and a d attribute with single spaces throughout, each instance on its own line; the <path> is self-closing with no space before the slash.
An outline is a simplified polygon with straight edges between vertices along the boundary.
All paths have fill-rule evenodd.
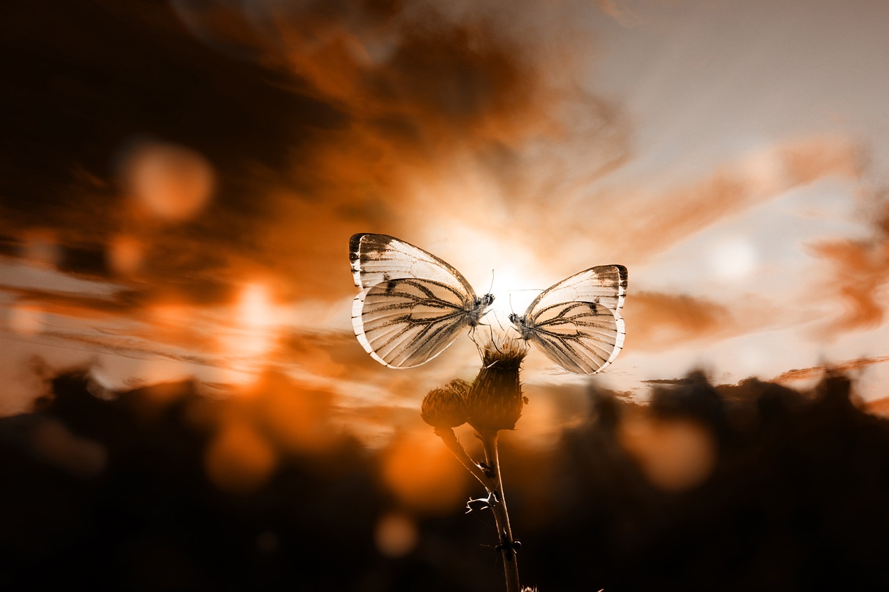
<path id="1" fill-rule="evenodd" d="M 541 292 L 525 311 L 509 315 L 524 340 L 568 372 L 594 374 L 621 353 L 627 268 L 600 265 Z"/>

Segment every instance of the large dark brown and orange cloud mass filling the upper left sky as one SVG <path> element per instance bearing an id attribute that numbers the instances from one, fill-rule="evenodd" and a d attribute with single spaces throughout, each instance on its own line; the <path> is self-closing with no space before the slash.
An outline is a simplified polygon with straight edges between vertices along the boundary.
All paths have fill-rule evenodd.
<path id="1" fill-rule="evenodd" d="M 348 292 L 348 236 L 403 230 L 410 183 L 565 133 L 554 109 L 579 93 L 554 90 L 546 27 L 520 8 L 510 25 L 424 2 L 7 3 L 2 231 L 49 229 L 62 269 L 98 276 L 140 245 L 125 279 L 148 292 L 207 300 L 224 297 L 207 278 L 257 274 L 286 297 Z M 121 166 L 147 142 L 212 167 L 190 220 L 134 209 Z"/>

